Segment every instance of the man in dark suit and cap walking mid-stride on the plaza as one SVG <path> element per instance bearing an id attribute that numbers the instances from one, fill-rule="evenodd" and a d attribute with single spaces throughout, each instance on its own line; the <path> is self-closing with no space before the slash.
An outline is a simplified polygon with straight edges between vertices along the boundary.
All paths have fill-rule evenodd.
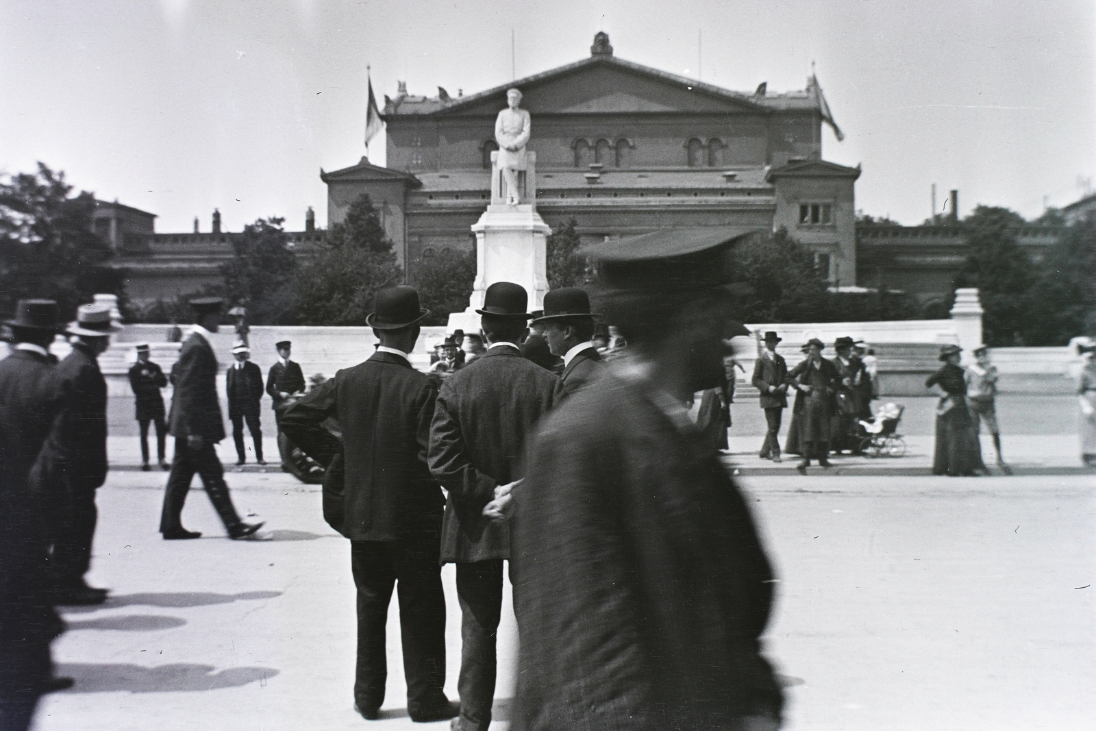
<path id="1" fill-rule="evenodd" d="M 194 328 L 183 341 L 179 361 L 171 369 L 175 392 L 171 399 L 171 434 L 175 437 L 175 458 L 171 462 L 163 494 L 160 533 L 164 540 L 199 538 L 181 522 L 183 503 L 197 472 L 209 501 L 232 539 L 249 538 L 263 525 L 240 519 L 225 483 L 225 468 L 217 457 L 216 444 L 225 438 L 225 423 L 217 401 L 217 357 L 209 335 L 217 332 L 224 300 L 201 297 L 191 300 Z"/>

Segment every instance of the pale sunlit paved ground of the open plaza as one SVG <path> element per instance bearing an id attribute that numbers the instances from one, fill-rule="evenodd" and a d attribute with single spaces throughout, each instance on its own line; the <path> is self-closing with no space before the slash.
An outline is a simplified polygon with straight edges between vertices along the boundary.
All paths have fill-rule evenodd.
<path id="1" fill-rule="evenodd" d="M 1093 728 L 1096 479 L 1075 435 L 1038 426 L 1054 423 L 1040 422 L 1046 403 L 1025 408 L 1013 423 L 1038 433 L 1005 436 L 1014 477 L 928 476 L 931 437 L 910 432 L 906 457 L 844 458 L 803 478 L 752 456 L 757 435 L 734 436 L 780 579 L 767 652 L 787 686 L 786 728 Z M 55 656 L 77 685 L 43 700 L 39 731 L 447 728 L 407 716 L 395 601 L 383 719 L 354 713 L 350 549 L 323 523 L 317 487 L 230 469 L 237 506 L 270 539 L 229 541 L 193 491 L 184 524 L 205 536 L 168 542 L 156 533 L 167 476 L 134 469 L 132 437 L 111 450 L 89 581 L 112 595 L 65 612 Z M 456 698 L 452 567 L 443 576 Z M 514 685 L 509 594 L 503 616 L 495 729 Z"/>

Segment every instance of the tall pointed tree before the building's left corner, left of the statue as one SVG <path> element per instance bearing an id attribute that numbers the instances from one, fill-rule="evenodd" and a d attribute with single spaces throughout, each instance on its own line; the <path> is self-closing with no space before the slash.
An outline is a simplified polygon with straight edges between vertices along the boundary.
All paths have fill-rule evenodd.
<path id="1" fill-rule="evenodd" d="M 369 196 L 351 204 L 346 218 L 323 236 L 295 286 L 301 324 L 365 324 L 377 289 L 399 284 L 392 242 L 385 237 Z"/>

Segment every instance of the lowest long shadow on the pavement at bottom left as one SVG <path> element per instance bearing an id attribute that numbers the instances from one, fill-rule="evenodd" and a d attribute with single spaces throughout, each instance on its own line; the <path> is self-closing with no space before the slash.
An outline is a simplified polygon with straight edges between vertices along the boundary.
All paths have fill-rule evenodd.
<path id="1" fill-rule="evenodd" d="M 125 663 L 61 663 L 58 676 L 76 679 L 64 693 L 197 693 L 217 688 L 236 688 L 249 683 L 265 685 L 278 674 L 273 667 L 229 667 L 214 672 L 213 665 L 174 663 L 145 667 Z"/>

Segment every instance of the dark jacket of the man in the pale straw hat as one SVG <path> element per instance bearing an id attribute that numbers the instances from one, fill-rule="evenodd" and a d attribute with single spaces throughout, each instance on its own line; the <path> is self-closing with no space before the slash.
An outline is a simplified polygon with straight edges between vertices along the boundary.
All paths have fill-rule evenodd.
<path id="1" fill-rule="evenodd" d="M 87 488 L 106 481 L 106 379 L 90 350 L 76 343 L 57 364 L 52 386 L 58 400 L 39 459 Z"/>

